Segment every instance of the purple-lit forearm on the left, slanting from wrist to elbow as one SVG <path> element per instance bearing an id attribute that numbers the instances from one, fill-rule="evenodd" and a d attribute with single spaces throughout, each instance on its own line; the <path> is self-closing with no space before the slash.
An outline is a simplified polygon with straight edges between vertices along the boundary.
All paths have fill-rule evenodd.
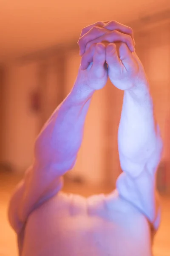
<path id="1" fill-rule="evenodd" d="M 79 77 L 71 93 L 46 122 L 35 143 L 35 160 L 38 165 L 55 165 L 66 171 L 75 163 L 82 142 L 85 117 L 94 90 Z"/>

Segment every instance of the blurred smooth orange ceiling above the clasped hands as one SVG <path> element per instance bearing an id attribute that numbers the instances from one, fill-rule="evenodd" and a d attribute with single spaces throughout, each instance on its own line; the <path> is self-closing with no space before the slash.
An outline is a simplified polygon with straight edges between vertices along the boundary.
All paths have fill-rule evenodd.
<path id="1" fill-rule="evenodd" d="M 170 0 L 0 0 L 0 61 L 77 41 L 98 20 L 129 23 L 170 7 Z"/>

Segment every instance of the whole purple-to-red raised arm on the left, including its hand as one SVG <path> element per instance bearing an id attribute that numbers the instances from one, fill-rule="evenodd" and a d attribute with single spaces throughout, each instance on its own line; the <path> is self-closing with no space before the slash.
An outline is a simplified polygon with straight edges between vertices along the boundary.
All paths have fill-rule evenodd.
<path id="1" fill-rule="evenodd" d="M 89 55 L 85 54 L 86 61 Z M 85 117 L 95 90 L 105 86 L 105 46 L 93 46 L 93 64 L 79 73 L 71 93 L 54 111 L 35 142 L 35 159 L 17 186 L 9 205 L 9 221 L 20 233 L 28 215 L 62 187 L 62 175 L 71 170 L 82 143 Z"/>

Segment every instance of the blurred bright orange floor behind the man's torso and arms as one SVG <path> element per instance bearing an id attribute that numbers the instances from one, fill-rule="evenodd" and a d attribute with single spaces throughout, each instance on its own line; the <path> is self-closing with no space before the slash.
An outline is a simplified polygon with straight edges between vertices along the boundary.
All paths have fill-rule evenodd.
<path id="1" fill-rule="evenodd" d="M 8 224 L 7 207 L 11 192 L 21 177 L 0 173 L 0 256 L 17 256 L 17 243 L 14 231 Z M 82 184 L 66 183 L 65 192 L 79 193 L 84 196 L 93 193 L 108 193 L 111 188 L 87 187 Z M 161 196 L 162 221 L 154 244 L 154 256 L 170 256 L 170 197 Z"/>

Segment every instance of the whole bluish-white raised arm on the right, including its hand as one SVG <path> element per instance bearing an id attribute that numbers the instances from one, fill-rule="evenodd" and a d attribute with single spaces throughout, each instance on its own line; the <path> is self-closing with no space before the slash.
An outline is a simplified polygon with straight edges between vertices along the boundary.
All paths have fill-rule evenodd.
<path id="1" fill-rule="evenodd" d="M 162 141 L 144 68 L 136 53 L 131 53 L 123 43 L 117 50 L 115 45 L 108 45 L 106 60 L 111 81 L 125 90 L 118 134 L 123 173 L 116 187 L 119 196 L 138 208 L 157 228 L 160 208 L 156 169 L 161 160 Z"/>

